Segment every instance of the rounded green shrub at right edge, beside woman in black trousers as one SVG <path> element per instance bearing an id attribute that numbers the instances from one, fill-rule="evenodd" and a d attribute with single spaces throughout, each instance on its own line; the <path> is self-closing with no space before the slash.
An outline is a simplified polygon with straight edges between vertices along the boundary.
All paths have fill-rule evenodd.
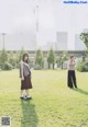
<path id="1" fill-rule="evenodd" d="M 78 61 L 76 69 L 80 72 L 88 71 L 88 61 Z"/>

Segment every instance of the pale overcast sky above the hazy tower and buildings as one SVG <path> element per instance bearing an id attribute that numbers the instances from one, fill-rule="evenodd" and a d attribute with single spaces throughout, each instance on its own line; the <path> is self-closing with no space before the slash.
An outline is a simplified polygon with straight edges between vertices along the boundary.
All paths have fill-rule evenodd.
<path id="1" fill-rule="evenodd" d="M 0 0 L 0 33 L 4 32 L 7 36 L 34 33 L 36 14 L 38 45 L 56 42 L 56 32 L 63 31 L 68 32 L 68 46 L 72 48 L 74 34 L 88 27 L 88 4 L 64 4 L 63 0 Z"/>

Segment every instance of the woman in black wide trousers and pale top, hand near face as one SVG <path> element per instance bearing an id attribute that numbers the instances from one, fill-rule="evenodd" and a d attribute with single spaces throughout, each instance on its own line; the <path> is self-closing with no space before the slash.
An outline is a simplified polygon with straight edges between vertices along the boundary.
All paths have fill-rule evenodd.
<path id="1" fill-rule="evenodd" d="M 68 86 L 69 88 L 77 88 L 76 83 L 76 74 L 75 74 L 75 58 L 74 56 L 70 56 L 70 60 L 68 62 Z"/>

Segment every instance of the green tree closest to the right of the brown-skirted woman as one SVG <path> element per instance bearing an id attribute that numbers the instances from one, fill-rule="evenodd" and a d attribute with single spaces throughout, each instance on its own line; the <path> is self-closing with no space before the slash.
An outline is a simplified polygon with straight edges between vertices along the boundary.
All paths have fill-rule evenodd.
<path id="1" fill-rule="evenodd" d="M 37 49 L 35 56 L 35 65 L 38 65 L 40 67 L 43 68 L 43 62 L 44 62 L 43 53 L 41 49 Z"/>

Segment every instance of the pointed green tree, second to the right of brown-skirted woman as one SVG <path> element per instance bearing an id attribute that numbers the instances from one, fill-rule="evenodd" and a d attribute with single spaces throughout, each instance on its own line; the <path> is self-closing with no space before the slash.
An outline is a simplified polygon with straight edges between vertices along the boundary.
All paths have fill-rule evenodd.
<path id="1" fill-rule="evenodd" d="M 48 51 L 47 62 L 48 62 L 48 69 L 50 69 L 51 64 L 53 65 L 53 69 L 54 69 L 55 55 L 52 48 Z"/>

